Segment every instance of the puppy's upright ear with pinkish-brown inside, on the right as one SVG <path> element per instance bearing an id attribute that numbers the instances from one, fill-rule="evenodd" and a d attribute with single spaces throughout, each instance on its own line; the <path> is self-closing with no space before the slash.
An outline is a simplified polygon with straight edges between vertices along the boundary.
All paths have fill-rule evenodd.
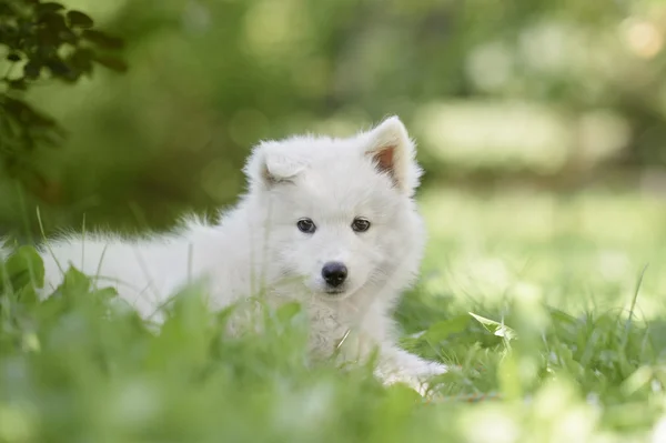
<path id="1" fill-rule="evenodd" d="M 422 170 L 416 163 L 416 148 L 405 125 L 397 117 L 390 117 L 365 133 L 365 155 L 379 172 L 393 180 L 403 193 L 412 195 L 418 187 Z"/>

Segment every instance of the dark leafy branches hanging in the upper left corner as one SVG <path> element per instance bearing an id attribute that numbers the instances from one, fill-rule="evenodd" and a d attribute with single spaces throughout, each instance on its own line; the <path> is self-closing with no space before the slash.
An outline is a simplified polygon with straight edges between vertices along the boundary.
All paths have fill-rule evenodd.
<path id="1" fill-rule="evenodd" d="M 33 153 L 57 147 L 65 131 L 26 100 L 44 81 L 77 83 L 101 64 L 118 72 L 127 66 L 117 53 L 123 41 L 94 29 L 88 14 L 57 2 L 0 0 L 0 165 L 39 193 L 44 179 Z"/>

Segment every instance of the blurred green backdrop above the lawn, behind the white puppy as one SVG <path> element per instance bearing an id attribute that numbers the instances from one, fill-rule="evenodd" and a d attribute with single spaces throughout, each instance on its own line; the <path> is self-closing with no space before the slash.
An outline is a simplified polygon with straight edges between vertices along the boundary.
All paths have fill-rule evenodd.
<path id="1" fill-rule="evenodd" d="M 0 232 L 169 228 L 243 191 L 264 138 L 398 114 L 425 187 L 663 194 L 656 0 L 69 0 L 127 41 L 125 74 L 28 94 L 69 132 L 0 184 Z M 0 71 L 3 69 L 0 61 Z M 7 63 L 7 62 L 4 62 Z"/>

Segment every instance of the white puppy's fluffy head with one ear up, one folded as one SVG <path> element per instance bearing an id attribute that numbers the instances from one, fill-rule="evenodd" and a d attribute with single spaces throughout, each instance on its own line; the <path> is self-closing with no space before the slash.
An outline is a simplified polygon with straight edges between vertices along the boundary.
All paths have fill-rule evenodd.
<path id="1" fill-rule="evenodd" d="M 346 139 L 295 137 L 255 148 L 245 172 L 250 195 L 270 212 L 268 249 L 279 273 L 326 300 L 413 274 L 423 243 L 414 155 L 396 117 Z"/>

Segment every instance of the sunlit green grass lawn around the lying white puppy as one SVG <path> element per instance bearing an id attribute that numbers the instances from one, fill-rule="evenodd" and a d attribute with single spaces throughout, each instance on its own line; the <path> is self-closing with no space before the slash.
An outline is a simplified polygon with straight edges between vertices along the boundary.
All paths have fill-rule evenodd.
<path id="1" fill-rule="evenodd" d="M 26 249 L 1 279 L 0 441 L 650 441 L 666 417 L 663 202 L 441 190 L 422 202 L 431 241 L 397 320 L 405 348 L 452 365 L 432 401 L 370 366 L 310 362 L 293 306 L 232 338 L 229 312 L 195 288 L 161 328 L 75 271 L 38 302 Z"/>

